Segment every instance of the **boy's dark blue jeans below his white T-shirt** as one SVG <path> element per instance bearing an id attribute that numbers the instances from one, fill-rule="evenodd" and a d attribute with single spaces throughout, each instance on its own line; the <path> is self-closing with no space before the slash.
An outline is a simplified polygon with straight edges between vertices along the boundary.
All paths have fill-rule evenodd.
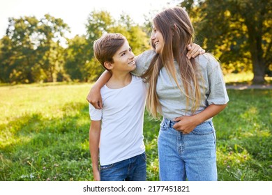
<path id="1" fill-rule="evenodd" d="M 100 166 L 101 181 L 145 181 L 146 153 Z"/>

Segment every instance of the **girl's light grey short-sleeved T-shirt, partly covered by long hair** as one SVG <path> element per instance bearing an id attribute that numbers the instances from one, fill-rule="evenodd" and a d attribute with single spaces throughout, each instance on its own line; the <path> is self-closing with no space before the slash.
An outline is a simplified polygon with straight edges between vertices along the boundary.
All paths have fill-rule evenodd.
<path id="1" fill-rule="evenodd" d="M 133 71 L 133 74 L 142 75 L 142 73 L 149 68 L 155 54 L 153 50 L 149 50 L 137 56 L 137 69 Z M 195 114 L 197 114 L 206 109 L 210 104 L 226 104 L 229 101 L 229 97 L 227 95 L 220 63 L 210 54 L 199 55 L 195 58 L 195 61 L 197 65 L 199 65 L 202 77 L 199 79 L 201 100 L 200 107 L 195 112 Z M 176 62 L 174 62 L 174 65 L 178 74 L 179 86 L 182 91 L 184 91 L 179 66 Z M 156 91 L 163 117 L 173 120 L 178 116 L 192 115 L 192 103 L 186 108 L 186 95 L 176 86 L 174 79 L 169 77 L 165 67 L 160 70 L 160 74 L 158 75 Z M 212 118 L 209 118 L 208 120 L 211 119 Z"/>

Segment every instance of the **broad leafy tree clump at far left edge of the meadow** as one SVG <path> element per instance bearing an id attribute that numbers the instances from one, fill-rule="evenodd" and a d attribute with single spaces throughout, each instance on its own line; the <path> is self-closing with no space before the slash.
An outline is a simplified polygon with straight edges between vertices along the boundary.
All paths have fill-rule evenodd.
<path id="1" fill-rule="evenodd" d="M 6 36 L 1 40 L 1 81 L 56 81 L 63 66 L 61 42 L 68 30 L 63 20 L 50 15 L 41 20 L 9 18 Z"/>

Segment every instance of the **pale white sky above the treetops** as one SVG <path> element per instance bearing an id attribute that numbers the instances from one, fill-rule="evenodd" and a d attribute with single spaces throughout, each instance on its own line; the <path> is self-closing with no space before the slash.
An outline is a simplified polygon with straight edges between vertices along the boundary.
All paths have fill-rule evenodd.
<path id="1" fill-rule="evenodd" d="M 176 0 L 0 0 L 0 38 L 6 33 L 8 17 L 35 16 L 49 13 L 70 26 L 71 38 L 85 33 L 87 17 L 93 10 L 107 10 L 115 19 L 121 13 L 142 24 L 144 14 L 176 5 Z"/>

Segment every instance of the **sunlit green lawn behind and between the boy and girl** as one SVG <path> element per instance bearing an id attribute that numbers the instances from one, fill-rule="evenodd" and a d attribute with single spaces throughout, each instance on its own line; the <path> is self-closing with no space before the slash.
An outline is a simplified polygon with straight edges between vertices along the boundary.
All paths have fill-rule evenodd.
<path id="1" fill-rule="evenodd" d="M 89 84 L 0 87 L 0 180 L 93 180 Z M 229 90 L 213 119 L 218 180 L 272 180 L 272 90 Z M 159 121 L 145 115 L 147 178 L 158 180 Z"/>

